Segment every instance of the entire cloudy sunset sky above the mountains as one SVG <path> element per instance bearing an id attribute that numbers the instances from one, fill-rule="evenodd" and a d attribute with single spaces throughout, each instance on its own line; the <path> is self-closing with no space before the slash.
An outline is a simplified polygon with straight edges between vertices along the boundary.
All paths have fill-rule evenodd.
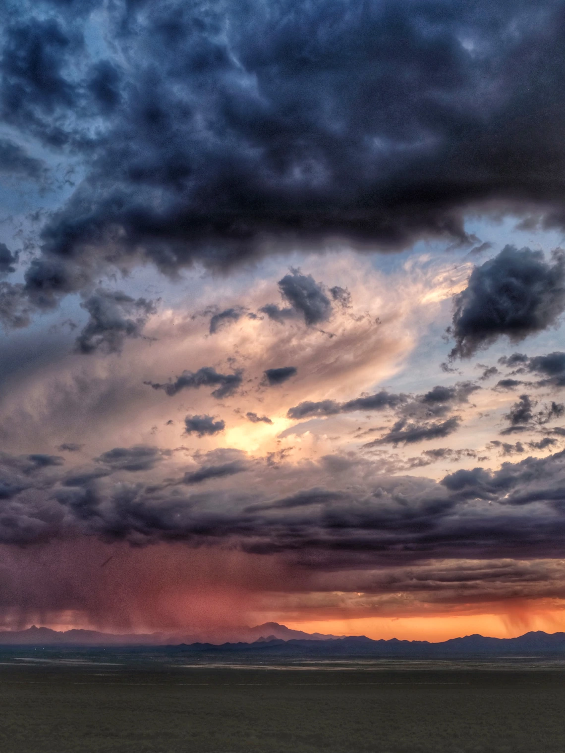
<path id="1" fill-rule="evenodd" d="M 0 14 L 0 627 L 565 630 L 565 4 Z"/>

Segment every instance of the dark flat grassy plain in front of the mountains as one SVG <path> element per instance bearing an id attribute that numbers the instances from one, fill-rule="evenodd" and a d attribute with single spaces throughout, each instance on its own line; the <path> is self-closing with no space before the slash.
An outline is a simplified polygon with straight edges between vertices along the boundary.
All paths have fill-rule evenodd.
<path id="1" fill-rule="evenodd" d="M 560 661 L 0 654 L 2 753 L 563 753 Z"/>

